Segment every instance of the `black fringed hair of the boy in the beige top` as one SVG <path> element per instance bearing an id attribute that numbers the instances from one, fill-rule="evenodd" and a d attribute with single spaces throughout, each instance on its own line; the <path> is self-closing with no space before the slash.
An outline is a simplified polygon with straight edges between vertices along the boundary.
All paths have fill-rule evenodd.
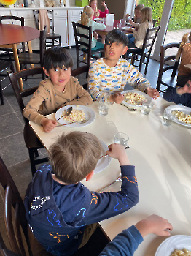
<path id="1" fill-rule="evenodd" d="M 73 60 L 68 50 L 61 46 L 54 46 L 45 51 L 43 67 L 47 71 L 49 69 L 56 69 L 57 67 L 70 67 L 72 69 Z"/>

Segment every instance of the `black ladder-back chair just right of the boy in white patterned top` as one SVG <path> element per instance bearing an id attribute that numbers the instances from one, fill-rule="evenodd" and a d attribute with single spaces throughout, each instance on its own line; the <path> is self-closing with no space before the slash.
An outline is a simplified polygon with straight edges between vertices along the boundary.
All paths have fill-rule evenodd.
<path id="1" fill-rule="evenodd" d="M 144 37 L 143 48 L 128 48 L 128 52 L 132 53 L 132 56 L 126 57 L 127 59 L 131 59 L 131 64 L 135 67 L 139 67 L 139 72 L 141 72 L 142 64 L 146 64 L 144 69 L 144 75 L 147 74 L 147 68 L 149 64 L 150 55 L 152 52 L 152 47 L 155 43 L 155 39 L 157 38 L 158 31 L 160 30 L 160 26 L 156 28 L 147 29 L 146 35 Z M 136 56 L 140 56 L 140 59 L 136 59 Z M 145 62 L 145 59 L 147 61 Z M 139 61 L 139 66 L 136 66 L 134 62 Z"/>

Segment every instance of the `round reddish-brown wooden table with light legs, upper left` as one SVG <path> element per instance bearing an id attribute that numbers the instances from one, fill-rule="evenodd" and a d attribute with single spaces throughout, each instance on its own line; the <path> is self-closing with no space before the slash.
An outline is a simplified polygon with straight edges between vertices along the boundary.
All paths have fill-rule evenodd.
<path id="1" fill-rule="evenodd" d="M 19 26 L 12 24 L 0 24 L 0 45 L 1 47 L 12 48 L 15 59 L 16 70 L 20 71 L 20 64 L 17 55 L 17 43 L 28 42 L 28 51 L 32 53 L 31 40 L 40 36 L 38 29 L 29 26 Z M 23 81 L 19 80 L 20 90 L 23 90 Z"/>

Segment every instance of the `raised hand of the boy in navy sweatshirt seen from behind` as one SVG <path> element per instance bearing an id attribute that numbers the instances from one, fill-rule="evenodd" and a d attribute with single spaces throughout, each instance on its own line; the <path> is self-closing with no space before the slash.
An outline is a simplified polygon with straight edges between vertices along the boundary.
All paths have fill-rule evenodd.
<path id="1" fill-rule="evenodd" d="M 109 145 L 108 148 L 109 150 L 106 151 L 106 154 L 108 154 L 109 157 L 118 159 L 120 165 L 130 165 L 124 146 L 114 143 Z"/>

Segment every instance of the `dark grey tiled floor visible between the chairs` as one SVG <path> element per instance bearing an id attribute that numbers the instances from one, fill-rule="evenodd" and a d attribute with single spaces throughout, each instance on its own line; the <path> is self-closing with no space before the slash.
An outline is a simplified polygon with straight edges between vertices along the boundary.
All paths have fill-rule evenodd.
<path id="1" fill-rule="evenodd" d="M 75 48 L 69 49 L 69 52 L 71 53 L 71 56 L 74 60 L 74 68 L 76 68 L 77 63 Z M 150 59 L 146 78 L 154 88 L 156 87 L 157 83 L 158 69 L 159 63 Z M 80 78 L 79 82 L 80 80 L 82 80 L 82 83 L 85 81 L 84 78 Z M 4 88 L 7 83 L 8 80 L 4 81 L 2 87 Z M 27 80 L 24 82 L 24 86 L 25 88 L 28 88 L 29 86 L 37 86 L 38 83 L 39 80 Z M 5 165 L 7 165 L 7 168 L 11 173 L 21 196 L 24 198 L 26 188 L 28 187 L 28 184 L 32 178 L 28 150 L 23 139 L 24 122 L 20 113 L 20 109 L 17 105 L 17 101 L 15 99 L 15 94 L 12 91 L 12 87 L 8 86 L 6 89 L 4 89 L 3 93 L 4 105 L 0 105 L 0 156 L 4 160 Z M 25 99 L 25 102 L 28 102 L 29 98 Z M 40 157 L 44 157 L 47 155 L 47 152 L 45 149 L 43 149 L 40 150 L 39 154 Z M 1 227 L 4 226 L 3 222 L 4 217 L 0 191 Z M 4 233 L 2 233 L 2 235 L 4 236 Z"/>

